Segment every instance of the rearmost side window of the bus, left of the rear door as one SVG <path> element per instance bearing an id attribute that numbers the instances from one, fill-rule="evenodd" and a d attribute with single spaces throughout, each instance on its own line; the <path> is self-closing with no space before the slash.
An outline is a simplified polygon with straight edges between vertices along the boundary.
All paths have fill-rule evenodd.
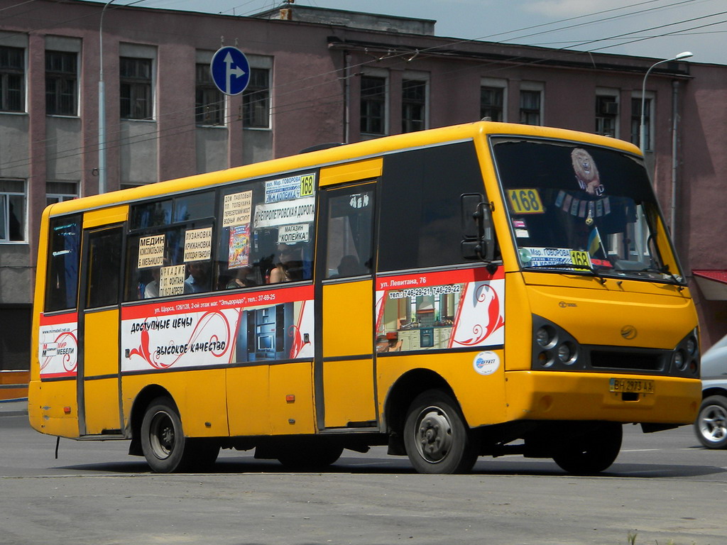
<path id="1" fill-rule="evenodd" d="M 79 290 L 81 216 L 50 220 L 45 311 L 76 308 Z"/>

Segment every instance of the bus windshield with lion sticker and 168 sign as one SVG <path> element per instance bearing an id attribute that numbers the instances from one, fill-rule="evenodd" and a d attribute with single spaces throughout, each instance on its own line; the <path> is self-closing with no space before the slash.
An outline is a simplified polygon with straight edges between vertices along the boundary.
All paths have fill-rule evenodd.
<path id="1" fill-rule="evenodd" d="M 523 270 L 683 283 L 640 158 L 546 140 L 491 140 Z"/>

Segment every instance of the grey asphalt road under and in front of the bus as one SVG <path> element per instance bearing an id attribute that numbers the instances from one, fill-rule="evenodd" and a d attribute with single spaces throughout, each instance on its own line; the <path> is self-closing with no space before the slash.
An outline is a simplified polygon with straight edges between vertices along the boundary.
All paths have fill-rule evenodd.
<path id="1" fill-rule="evenodd" d="M 374 448 L 324 473 L 222 451 L 212 472 L 155 475 L 121 441 L 61 440 L 0 410 L 0 544 L 727 544 L 727 451 L 690 428 L 627 427 L 598 477 L 483 458 L 417 475 Z"/>

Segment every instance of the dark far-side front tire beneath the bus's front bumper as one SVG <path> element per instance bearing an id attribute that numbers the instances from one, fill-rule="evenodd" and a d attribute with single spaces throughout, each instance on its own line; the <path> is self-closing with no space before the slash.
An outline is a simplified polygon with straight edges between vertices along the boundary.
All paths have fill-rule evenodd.
<path id="1" fill-rule="evenodd" d="M 553 460 L 561 469 L 574 475 L 594 475 L 605 471 L 616 461 L 622 439 L 622 424 L 588 424 L 582 432 L 561 442 Z"/>

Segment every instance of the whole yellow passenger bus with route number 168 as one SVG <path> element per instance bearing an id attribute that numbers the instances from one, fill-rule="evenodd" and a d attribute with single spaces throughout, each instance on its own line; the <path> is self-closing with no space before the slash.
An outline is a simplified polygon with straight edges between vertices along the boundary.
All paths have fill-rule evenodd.
<path id="1" fill-rule="evenodd" d="M 387 445 L 601 472 L 624 424 L 691 424 L 699 331 L 643 158 L 478 122 L 49 206 L 39 432 L 320 468 Z"/>

